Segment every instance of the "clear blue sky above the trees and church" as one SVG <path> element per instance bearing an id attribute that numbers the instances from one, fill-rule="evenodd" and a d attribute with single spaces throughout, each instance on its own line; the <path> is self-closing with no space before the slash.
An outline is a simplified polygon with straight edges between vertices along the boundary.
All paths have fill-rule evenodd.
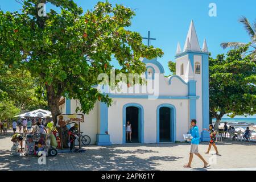
<path id="1" fill-rule="evenodd" d="M 93 9 L 98 0 L 75 0 L 75 2 L 86 11 Z M 174 60 L 177 42 L 180 42 L 183 48 L 192 19 L 200 46 L 203 46 L 204 38 L 207 39 L 208 49 L 215 57 L 226 52 L 220 47 L 222 42 L 249 42 L 249 36 L 237 20 L 242 15 L 250 22 L 256 18 L 255 0 L 113 0 L 109 2 L 113 5 L 122 3 L 135 11 L 136 16 L 129 30 L 137 31 L 142 36 L 147 36 L 147 31 L 151 31 L 152 38 L 156 38 L 151 44 L 164 51 L 164 56 L 159 61 L 163 64 L 166 75 L 170 74 L 167 63 L 169 60 Z M 216 17 L 208 15 L 209 3 L 216 3 Z M 0 7 L 3 11 L 20 9 L 20 5 L 15 0 L 0 0 Z M 46 8 L 47 11 L 50 9 L 50 7 Z M 147 44 L 146 40 L 144 44 Z"/>

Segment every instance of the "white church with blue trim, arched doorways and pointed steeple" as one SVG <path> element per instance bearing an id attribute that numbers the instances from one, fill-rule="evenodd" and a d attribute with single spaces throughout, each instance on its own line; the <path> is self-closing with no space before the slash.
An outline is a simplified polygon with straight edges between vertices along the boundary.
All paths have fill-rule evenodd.
<path id="1" fill-rule="evenodd" d="M 191 119 L 196 119 L 201 141 L 208 141 L 209 133 L 203 131 L 209 127 L 208 56 L 207 43 L 204 40 L 200 48 L 192 21 L 183 50 L 180 43 L 177 44 L 174 76 L 165 77 L 157 59 L 144 59 L 145 77 L 154 85 L 155 93 L 145 92 L 146 85 L 126 88 L 134 90 L 137 86 L 140 92 L 136 93 L 113 92 L 104 86 L 104 93 L 113 100 L 112 105 L 108 107 L 97 101 L 94 109 L 84 115 L 81 131 L 89 135 L 91 144 L 125 144 L 126 123 L 130 121 L 133 143 L 175 142 L 184 141 L 183 134 L 189 132 Z M 79 101 L 65 98 L 60 110 L 63 114 L 74 114 L 77 106 Z"/>

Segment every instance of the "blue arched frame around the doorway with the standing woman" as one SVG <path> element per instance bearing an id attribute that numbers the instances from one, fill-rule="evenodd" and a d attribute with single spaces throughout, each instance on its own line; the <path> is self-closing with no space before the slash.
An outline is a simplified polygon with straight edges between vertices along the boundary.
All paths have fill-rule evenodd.
<path id="1" fill-rule="evenodd" d="M 129 103 L 123 106 L 123 144 L 126 143 L 126 108 L 137 107 L 139 109 L 139 142 L 144 143 L 144 109 L 137 103 Z"/>

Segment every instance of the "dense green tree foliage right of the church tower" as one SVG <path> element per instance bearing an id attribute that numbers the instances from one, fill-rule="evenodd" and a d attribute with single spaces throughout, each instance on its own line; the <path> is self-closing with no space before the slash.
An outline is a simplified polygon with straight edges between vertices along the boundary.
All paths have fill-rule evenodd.
<path id="1" fill-rule="evenodd" d="M 229 113 L 230 117 L 256 113 L 256 65 L 250 56 L 243 56 L 248 46 L 209 58 L 210 113 L 217 119 Z"/>

